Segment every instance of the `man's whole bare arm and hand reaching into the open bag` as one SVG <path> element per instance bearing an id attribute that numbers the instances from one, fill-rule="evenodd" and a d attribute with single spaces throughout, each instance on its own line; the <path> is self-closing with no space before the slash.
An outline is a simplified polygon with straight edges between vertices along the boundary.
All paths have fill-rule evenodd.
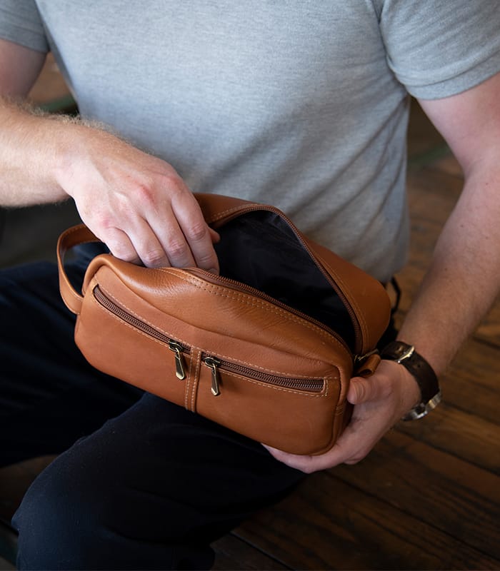
<path id="1" fill-rule="evenodd" d="M 99 128 L 36 116 L 9 101 L 26 97 L 44 60 L 0 39 L 0 205 L 72 196 L 82 220 L 116 257 L 217 272 L 219 236 L 168 163 Z"/>

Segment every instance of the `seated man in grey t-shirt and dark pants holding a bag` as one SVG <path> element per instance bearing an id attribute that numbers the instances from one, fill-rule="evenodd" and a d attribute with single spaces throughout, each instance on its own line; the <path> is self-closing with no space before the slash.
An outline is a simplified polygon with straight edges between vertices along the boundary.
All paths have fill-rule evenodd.
<path id="1" fill-rule="evenodd" d="M 209 567 L 209 542 L 302 472 L 356 463 L 436 403 L 429 378 L 499 288 L 499 19 L 493 0 L 4 1 L 1 204 L 71 196 L 124 260 L 217 271 L 217 237 L 191 195 L 212 191 L 274 203 L 388 281 L 408 239 L 409 93 L 465 175 L 401 343 L 372 378 L 352 380 L 353 419 L 314 458 L 265 450 L 91 370 L 55 269 L 5 271 L 1 462 L 67 449 L 14 519 L 21 568 Z M 49 49 L 85 121 L 16 105 Z"/>

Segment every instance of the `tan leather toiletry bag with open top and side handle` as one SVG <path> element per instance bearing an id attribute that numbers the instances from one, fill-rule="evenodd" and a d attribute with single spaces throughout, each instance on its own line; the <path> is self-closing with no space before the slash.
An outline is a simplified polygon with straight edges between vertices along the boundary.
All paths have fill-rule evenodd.
<path id="1" fill-rule="evenodd" d="M 78 315 L 76 344 L 104 373 L 249 438 L 296 454 L 326 452 L 349 422 L 351 376 L 379 363 L 388 295 L 278 209 L 195 196 L 221 234 L 221 276 L 101 254 L 80 294 L 64 253 L 97 239 L 85 226 L 61 235 L 60 288 Z"/>

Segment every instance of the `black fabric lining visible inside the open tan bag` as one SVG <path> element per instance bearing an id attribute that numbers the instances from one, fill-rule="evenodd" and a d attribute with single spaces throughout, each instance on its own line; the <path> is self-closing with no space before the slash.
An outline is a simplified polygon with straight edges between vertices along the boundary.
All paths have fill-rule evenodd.
<path id="1" fill-rule="evenodd" d="M 321 321 L 354 352 L 354 325 L 348 310 L 281 216 L 251 211 L 217 231 L 221 276 L 251 285 Z"/>

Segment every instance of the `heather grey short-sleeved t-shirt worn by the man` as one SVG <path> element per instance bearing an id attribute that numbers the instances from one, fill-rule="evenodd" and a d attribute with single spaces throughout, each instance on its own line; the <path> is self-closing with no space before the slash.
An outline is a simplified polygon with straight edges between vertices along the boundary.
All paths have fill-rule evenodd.
<path id="1" fill-rule="evenodd" d="M 3 0 L 82 116 L 194 191 L 272 203 L 381 281 L 408 246 L 409 97 L 500 70 L 498 0 Z"/>

